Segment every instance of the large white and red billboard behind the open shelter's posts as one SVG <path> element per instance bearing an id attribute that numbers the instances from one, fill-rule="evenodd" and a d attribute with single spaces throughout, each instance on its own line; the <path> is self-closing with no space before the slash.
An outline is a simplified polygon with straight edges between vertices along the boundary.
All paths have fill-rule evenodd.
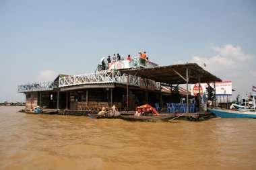
<path id="1" fill-rule="evenodd" d="M 214 88 L 214 83 L 209 83 L 212 88 Z M 200 87 L 200 88 L 199 88 Z M 202 95 L 208 87 L 207 83 L 200 83 L 191 85 L 191 95 L 197 95 L 199 93 Z M 216 82 L 216 95 L 232 95 L 232 81 L 223 81 L 223 82 Z"/>

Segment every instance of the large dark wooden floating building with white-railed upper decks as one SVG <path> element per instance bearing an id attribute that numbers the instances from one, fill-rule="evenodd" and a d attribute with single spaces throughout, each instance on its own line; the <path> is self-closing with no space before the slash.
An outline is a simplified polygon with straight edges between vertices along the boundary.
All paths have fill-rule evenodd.
<path id="1" fill-rule="evenodd" d="M 104 67 L 104 66 L 103 66 Z M 195 63 L 160 67 L 146 60 L 119 60 L 107 68 L 98 65 L 95 73 L 58 75 L 52 82 L 18 85 L 26 95 L 26 108 L 88 111 L 135 110 L 137 105 L 189 101 L 188 84 L 221 81 Z M 187 89 L 179 85 L 187 85 Z"/>

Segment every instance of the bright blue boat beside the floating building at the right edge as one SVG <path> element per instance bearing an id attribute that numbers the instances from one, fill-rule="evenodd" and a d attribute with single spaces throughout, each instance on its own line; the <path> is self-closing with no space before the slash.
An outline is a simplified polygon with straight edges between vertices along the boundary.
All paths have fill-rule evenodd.
<path id="1" fill-rule="evenodd" d="M 224 110 L 220 108 L 208 109 L 210 112 L 222 118 L 256 118 L 256 110 Z"/>

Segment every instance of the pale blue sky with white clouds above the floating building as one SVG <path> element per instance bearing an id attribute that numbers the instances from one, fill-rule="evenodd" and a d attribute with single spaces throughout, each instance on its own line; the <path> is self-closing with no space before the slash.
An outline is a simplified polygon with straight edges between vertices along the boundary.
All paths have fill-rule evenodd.
<path id="1" fill-rule="evenodd" d="M 100 58 L 146 51 L 160 66 L 196 62 L 233 99 L 256 86 L 256 1 L 0 0 L 0 102 L 18 85 L 93 73 Z"/>

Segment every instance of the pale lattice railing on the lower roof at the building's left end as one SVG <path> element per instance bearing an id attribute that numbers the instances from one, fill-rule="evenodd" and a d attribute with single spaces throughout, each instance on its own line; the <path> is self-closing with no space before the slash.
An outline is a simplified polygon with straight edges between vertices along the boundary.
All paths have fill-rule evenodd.
<path id="1" fill-rule="evenodd" d="M 26 85 L 18 85 L 18 92 L 53 90 L 53 86 L 53 81 L 44 83 L 28 83 Z"/>

